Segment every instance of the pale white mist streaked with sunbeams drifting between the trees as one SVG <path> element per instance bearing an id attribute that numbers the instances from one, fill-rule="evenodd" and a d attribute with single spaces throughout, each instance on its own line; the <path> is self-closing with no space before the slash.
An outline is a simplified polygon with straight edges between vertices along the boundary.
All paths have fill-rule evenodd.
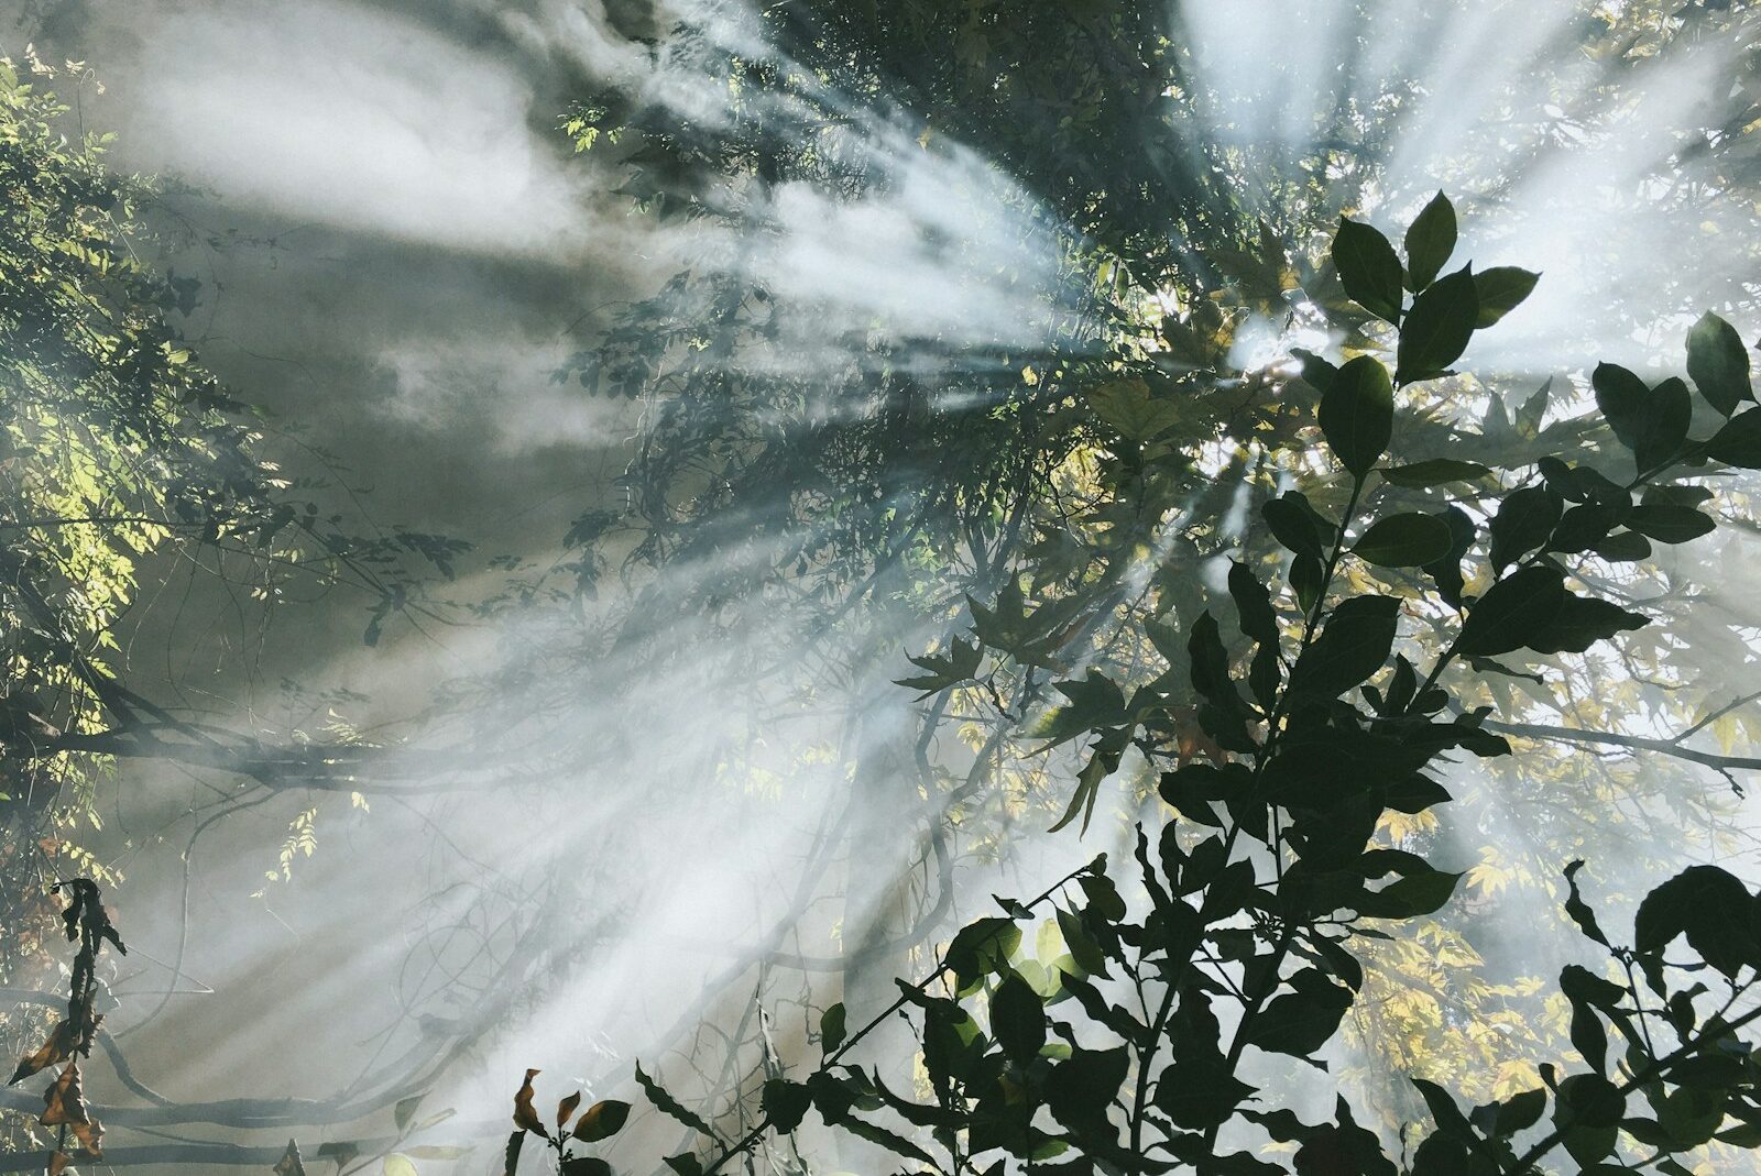
<path id="1" fill-rule="evenodd" d="M 435 1121 L 398 1146 L 423 1172 L 490 1171 L 527 1069 L 542 1070 L 541 1106 L 571 1090 L 632 1099 L 637 1062 L 694 1095 L 726 1090 L 729 1074 L 807 1051 L 826 1005 L 849 1003 L 852 1023 L 879 1011 L 888 970 L 926 970 L 935 942 L 995 914 L 993 894 L 1035 894 L 1099 852 L 1131 859 L 1131 822 L 1155 808 L 1148 769 L 1127 757 L 1085 834 L 1048 833 L 1081 769 L 1072 748 L 1043 752 L 970 717 L 925 727 L 925 704 L 895 685 L 914 673 L 907 655 L 947 650 L 972 621 L 963 595 L 912 611 L 852 592 L 858 606 L 840 611 L 770 583 L 792 558 L 782 553 L 815 549 L 838 525 L 828 511 L 789 530 L 782 488 L 752 533 L 662 567 L 613 562 L 585 602 L 523 595 L 579 558 L 565 535 L 583 512 L 629 511 L 627 472 L 655 408 L 576 379 L 583 349 L 627 326 L 627 306 L 689 315 L 667 287 L 680 271 L 761 287 L 770 329 L 757 342 L 726 357 L 682 350 L 708 352 L 731 379 L 796 382 L 801 407 L 759 423 L 778 433 L 873 419 L 852 373 L 880 368 L 909 373 L 939 419 L 979 421 L 998 403 L 995 382 L 1023 366 L 1101 363 L 1097 283 L 1072 261 L 1095 243 L 1055 192 L 932 134 L 909 93 L 812 79 L 738 4 L 671 5 L 653 28 L 597 0 L 9 9 L 4 51 L 30 42 L 46 62 L 83 62 L 88 79 L 56 83 L 77 90 L 77 118 L 116 132 L 114 165 L 166 178 L 150 209 L 158 264 L 199 282 L 180 326 L 266 410 L 280 452 L 317 454 L 324 493 L 375 526 L 475 544 L 437 590 L 444 623 L 393 621 L 375 644 L 347 593 L 291 600 L 261 625 L 187 567 L 167 576 L 173 590 L 143 593 L 127 651 L 137 688 L 266 743 L 366 739 L 412 764 L 398 785 L 289 789 L 238 812 L 217 773 L 118 768 L 127 789 L 104 849 L 127 878 L 109 901 L 130 954 L 106 977 L 106 1026 L 136 1077 L 180 1102 L 335 1104 L 178 1137 L 278 1151 L 292 1134 L 312 1165 L 326 1139 L 391 1136 L 393 1106 L 419 1088 L 414 1120 Z M 1256 181 L 1393 104 L 1388 137 L 1354 144 L 1374 176 L 1326 211 L 1404 224 L 1442 188 L 1463 209 L 1462 257 L 1543 271 L 1472 359 L 1536 384 L 1560 377 L 1560 419 L 1587 403 L 1597 359 L 1647 379 L 1678 371 L 1680 334 L 1703 310 L 1745 340 L 1757 327 L 1754 192 L 1724 185 L 1717 158 L 1680 134 L 1754 85 L 1752 16 L 1747 44 L 1678 37 L 1617 85 L 1587 48 L 1585 9 L 1171 4 L 1197 97 L 1194 121 L 1168 134 L 1224 150 L 1254 211 L 1296 224 L 1308 209 L 1270 183 L 1252 195 Z M 701 40 L 667 33 L 674 21 Z M 810 102 L 736 100 L 704 69 L 703 42 L 803 74 Z M 842 134 L 826 151 L 863 183 L 784 178 L 711 192 L 690 217 L 645 215 L 618 192 L 636 167 L 620 148 L 576 151 L 562 132 L 567 104 L 604 90 L 678 125 L 755 121 L 787 141 L 810 141 L 835 111 Z M 1271 371 L 1317 340 L 1296 308 L 1249 343 L 1236 359 Z M 902 509 L 923 489 L 912 477 L 865 509 Z M 1222 526 L 1243 530 L 1245 509 L 1236 496 Z M 1127 577 L 1138 592 L 1201 511 L 1160 525 Z M 632 540 L 613 540 L 613 560 L 620 542 Z M 1754 687 L 1761 618 L 1742 586 L 1761 565 L 1752 533 L 1719 542 L 1728 590 L 1708 595 L 1717 634 L 1735 639 L 1703 665 L 1736 697 Z M 1669 570 L 1664 560 L 1661 597 Z M 900 599 L 930 593 L 905 555 L 875 574 L 896 576 Z M 724 592 L 748 579 L 764 590 Z M 1603 671 L 1622 676 L 1613 660 Z M 1585 761 L 1587 773 L 1666 773 L 1647 790 L 1717 794 L 1722 819 L 1749 827 L 1712 771 Z M 1437 831 L 1451 868 L 1523 845 L 1539 785 L 1514 776 L 1460 766 L 1451 785 L 1470 799 Z M 1724 854 L 1761 880 L 1752 845 L 1712 838 L 1669 852 Z M 1597 870 L 1622 894 L 1611 908 L 1654 880 Z M 1463 915 L 1486 924 L 1492 968 L 1557 967 L 1527 958 L 1520 915 L 1488 914 L 1493 875 L 1469 877 Z M 884 951 L 919 921 L 930 933 Z M 852 967 L 863 944 L 882 949 Z M 916 1047 L 898 1026 L 865 1060 L 909 1083 Z M 1337 1062 L 1351 1072 L 1363 1056 Z M 95 1104 L 139 1104 L 90 1070 Z M 1303 1106 L 1300 1077 L 1289 1083 Z M 350 1114 L 326 1118 L 336 1106 Z M 113 1146 L 164 1127 L 150 1109 L 106 1118 Z M 639 1109 L 632 1123 L 606 1153 L 615 1164 L 636 1171 L 676 1150 L 667 1120 Z M 819 1148 L 810 1171 L 873 1162 L 807 1143 Z M 539 1157 L 521 1171 L 541 1171 Z"/>

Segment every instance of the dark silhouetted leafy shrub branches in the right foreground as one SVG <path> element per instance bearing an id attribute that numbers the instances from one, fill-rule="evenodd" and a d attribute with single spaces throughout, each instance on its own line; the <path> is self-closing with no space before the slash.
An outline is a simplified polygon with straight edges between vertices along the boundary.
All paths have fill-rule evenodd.
<path id="1" fill-rule="evenodd" d="M 1430 495 L 1481 477 L 1453 459 L 1384 477 L 1396 394 L 1448 375 L 1483 329 L 1470 268 L 1425 280 L 1453 252 L 1453 232 L 1425 241 L 1437 209 L 1449 206 L 1439 199 L 1409 232 L 1405 266 L 1370 225 L 1345 222 L 1335 239 L 1342 280 L 1395 327 L 1396 354 L 1393 373 L 1374 354 L 1305 364 L 1323 437 L 1349 475 L 1344 511 L 1331 518 L 1293 491 L 1264 502 L 1264 523 L 1289 553 L 1289 592 L 1231 565 L 1245 650 L 1210 609 L 1187 625 L 1182 648 L 1157 641 L 1168 662 L 1187 665 L 1206 762 L 1182 746 L 1173 713 L 1185 694 L 1171 674 L 1129 694 L 1095 671 L 1058 683 L 1067 704 L 1039 734 L 1088 741 L 1101 768 L 1079 789 L 1097 789 L 1134 748 L 1157 768 L 1173 810 L 1153 833 L 1138 826 L 1132 889 L 1122 893 L 1102 857 L 1034 901 L 998 900 L 1000 917 L 969 922 L 928 977 L 900 982 L 898 1000 L 856 1033 L 842 1033 L 842 1005 L 829 1011 L 822 1062 L 801 1081 L 768 1081 L 759 1125 L 736 1139 L 645 1079 L 662 1111 L 710 1137 L 708 1157 L 667 1160 L 676 1172 L 720 1171 L 770 1132 L 792 1134 L 810 1107 L 912 1171 L 937 1172 L 1000 1174 L 998 1151 L 1046 1172 L 1287 1171 L 1268 1158 L 1277 1144 L 1294 1144 L 1303 1176 L 1393 1174 L 1396 1160 L 1425 1176 L 1516 1174 L 1557 1150 L 1583 1171 L 1689 1171 L 1673 1157 L 1708 1143 L 1761 1144 L 1761 1069 L 1740 1033 L 1761 1018 L 1761 933 L 1750 928 L 1761 896 L 1715 866 L 1654 889 L 1631 945 L 1610 940 L 1580 896 L 1583 863 L 1566 868 L 1564 910 L 1613 967 L 1558 974 L 1576 1063 L 1544 1062 L 1539 1086 L 1469 1113 L 1416 1079 L 1432 1123 L 1393 1158 L 1344 1091 L 1319 1123 L 1259 1097 L 1289 1081 L 1266 1065 L 1273 1056 L 1326 1069 L 1365 986 L 1359 958 L 1458 887 L 1460 873 L 1414 852 L 1412 838 L 1396 843 L 1386 822 L 1451 799 L 1439 778 L 1449 752 L 1511 753 L 1488 729 L 1492 708 L 1460 706 L 1451 669 L 1500 673 L 1493 658 L 1520 651 L 1581 655 L 1648 625 L 1597 590 L 1595 569 L 1708 533 L 1701 507 L 1713 491 L 1703 481 L 1720 465 L 1761 467 L 1747 352 L 1708 317 L 1689 336 L 1705 417 L 1678 379 L 1652 387 L 1611 364 L 1595 370 L 1597 408 L 1625 470 L 1613 452 L 1601 465 L 1536 454 L 1532 477 L 1472 496 Z M 1425 486 L 1428 511 L 1389 502 L 1395 486 Z M 995 609 L 974 607 L 976 643 L 916 658 L 930 674 L 905 685 L 954 688 L 977 671 L 977 646 L 1044 660 L 997 620 L 1021 613 L 1011 592 Z M 1421 634 L 1442 634 L 1428 667 Z M 1071 812 L 1090 805 L 1078 792 Z M 1060 898 L 1027 951 L 1021 924 Z M 1684 938 L 1687 959 L 1676 954 Z M 917 1025 L 930 1102 L 889 1088 L 879 1069 L 842 1065 L 896 1012 Z M 1622 1046 L 1613 1056 L 1608 1026 Z M 925 1134 L 937 1151 L 919 1143 Z"/>

